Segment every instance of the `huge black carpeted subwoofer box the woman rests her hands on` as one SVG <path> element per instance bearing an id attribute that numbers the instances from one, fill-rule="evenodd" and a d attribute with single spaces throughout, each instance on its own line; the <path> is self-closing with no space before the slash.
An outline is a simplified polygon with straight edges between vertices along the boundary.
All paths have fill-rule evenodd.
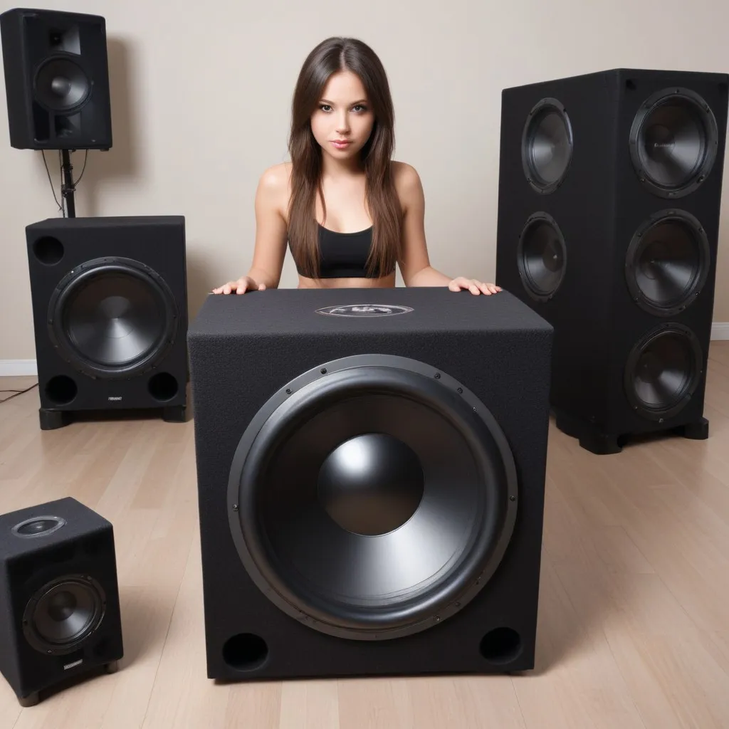
<path id="1" fill-rule="evenodd" d="M 208 297 L 208 677 L 532 668 L 551 339 L 508 293 Z"/>

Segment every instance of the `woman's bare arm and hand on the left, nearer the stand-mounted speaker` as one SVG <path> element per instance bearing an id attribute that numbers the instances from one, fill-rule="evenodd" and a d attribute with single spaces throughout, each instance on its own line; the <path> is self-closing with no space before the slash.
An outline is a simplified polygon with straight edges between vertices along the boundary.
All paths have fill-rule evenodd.
<path id="1" fill-rule="evenodd" d="M 288 184 L 288 171 L 284 165 L 274 165 L 262 174 L 255 198 L 256 241 L 251 268 L 237 281 L 228 281 L 213 289 L 214 294 L 244 294 L 278 286 L 287 240 L 281 201 L 286 199 Z"/>

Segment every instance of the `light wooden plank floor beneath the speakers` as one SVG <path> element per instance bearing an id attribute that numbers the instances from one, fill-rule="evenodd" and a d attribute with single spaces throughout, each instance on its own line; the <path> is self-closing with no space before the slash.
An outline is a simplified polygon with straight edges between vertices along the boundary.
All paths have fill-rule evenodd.
<path id="1" fill-rule="evenodd" d="M 709 440 L 593 456 L 551 427 L 538 662 L 519 677 L 215 685 L 192 422 L 41 432 L 37 407 L 36 389 L 0 404 L 0 512 L 71 495 L 114 523 L 125 658 L 29 709 L 0 682 L 0 729 L 729 727 L 729 343 Z"/>

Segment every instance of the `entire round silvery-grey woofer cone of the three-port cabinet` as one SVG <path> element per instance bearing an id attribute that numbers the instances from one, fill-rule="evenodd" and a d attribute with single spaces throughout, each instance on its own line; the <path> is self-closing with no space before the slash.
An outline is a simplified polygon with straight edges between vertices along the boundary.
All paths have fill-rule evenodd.
<path id="1" fill-rule="evenodd" d="M 82 372 L 114 377 L 154 366 L 174 341 L 174 297 L 161 276 L 127 258 L 87 262 L 61 281 L 49 304 L 59 353 Z"/>

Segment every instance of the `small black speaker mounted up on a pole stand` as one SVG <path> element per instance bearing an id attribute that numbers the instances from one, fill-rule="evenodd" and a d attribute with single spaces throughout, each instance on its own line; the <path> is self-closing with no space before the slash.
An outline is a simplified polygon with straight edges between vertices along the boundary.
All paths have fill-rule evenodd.
<path id="1" fill-rule="evenodd" d="M 0 39 L 12 147 L 112 147 L 104 17 L 14 8 Z"/>

